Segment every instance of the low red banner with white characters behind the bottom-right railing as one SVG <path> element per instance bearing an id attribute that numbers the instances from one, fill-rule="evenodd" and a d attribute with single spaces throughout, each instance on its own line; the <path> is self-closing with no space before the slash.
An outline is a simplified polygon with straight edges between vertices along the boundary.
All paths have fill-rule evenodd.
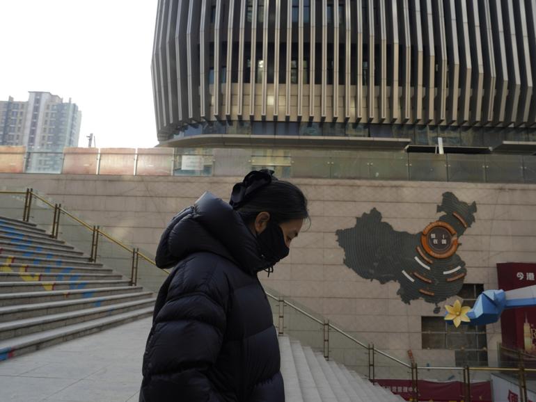
<path id="1" fill-rule="evenodd" d="M 411 380 L 375 380 L 388 391 L 402 396 L 406 401 L 413 401 Z M 449 381 L 418 381 L 419 401 L 429 402 L 462 402 L 464 401 L 464 383 Z M 471 383 L 471 400 L 491 402 L 491 385 L 489 381 Z"/>

